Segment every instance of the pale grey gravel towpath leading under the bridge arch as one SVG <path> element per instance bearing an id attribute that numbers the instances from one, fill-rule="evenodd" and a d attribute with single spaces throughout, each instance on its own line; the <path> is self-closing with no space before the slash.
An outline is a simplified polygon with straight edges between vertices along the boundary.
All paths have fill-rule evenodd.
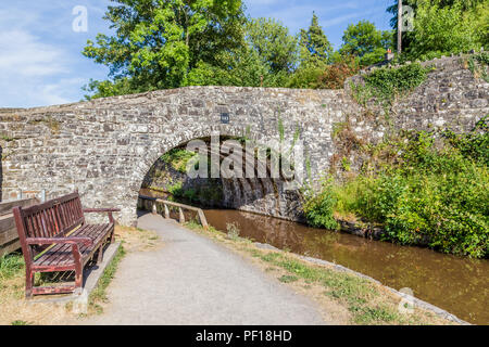
<path id="1" fill-rule="evenodd" d="M 108 288 L 104 313 L 87 324 L 328 324 L 313 301 L 248 260 L 161 216 L 138 227 L 164 246 L 129 253 Z"/>

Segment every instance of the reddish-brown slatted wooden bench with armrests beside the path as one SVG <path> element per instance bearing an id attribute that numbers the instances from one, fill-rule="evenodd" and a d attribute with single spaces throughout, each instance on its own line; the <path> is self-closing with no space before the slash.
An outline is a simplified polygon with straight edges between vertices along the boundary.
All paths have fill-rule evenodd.
<path id="1" fill-rule="evenodd" d="M 84 267 L 114 240 L 115 208 L 84 209 L 78 193 L 62 196 L 27 208 L 14 207 L 26 269 L 26 297 L 40 294 L 82 294 Z M 109 223 L 87 224 L 87 213 L 106 213 Z M 34 286 L 36 272 L 75 271 L 75 283 Z"/>

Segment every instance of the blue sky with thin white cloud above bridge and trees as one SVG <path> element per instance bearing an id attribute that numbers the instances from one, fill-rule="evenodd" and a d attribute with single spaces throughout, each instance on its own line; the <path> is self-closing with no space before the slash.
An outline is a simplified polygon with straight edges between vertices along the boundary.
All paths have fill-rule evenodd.
<path id="1" fill-rule="evenodd" d="M 34 107 L 80 101 L 90 78 L 108 68 L 82 55 L 87 40 L 111 34 L 103 14 L 110 0 L 0 0 L 0 107 Z M 389 29 L 392 0 L 244 0 L 252 17 L 274 17 L 291 34 L 319 17 L 335 49 L 351 23 L 367 20 Z M 77 7 L 87 10 L 87 27 Z M 75 28 L 74 29 L 74 22 Z"/>

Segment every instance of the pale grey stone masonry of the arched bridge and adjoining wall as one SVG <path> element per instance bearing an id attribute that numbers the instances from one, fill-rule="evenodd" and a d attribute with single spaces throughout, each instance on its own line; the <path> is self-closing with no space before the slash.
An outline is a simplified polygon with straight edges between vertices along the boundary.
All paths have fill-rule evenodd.
<path id="1" fill-rule="evenodd" d="M 393 126 L 471 129 L 489 113 L 489 85 L 456 59 L 436 62 L 428 81 L 396 106 Z M 313 178 L 335 153 L 335 124 L 380 138 L 386 128 L 362 117 L 346 90 L 188 87 L 60 106 L 0 110 L 1 198 L 46 190 L 48 198 L 77 189 L 87 207 L 117 206 L 136 220 L 138 192 L 155 160 L 193 139 L 250 136 L 258 142 L 300 137 Z M 223 124 L 222 114 L 229 115 Z"/>

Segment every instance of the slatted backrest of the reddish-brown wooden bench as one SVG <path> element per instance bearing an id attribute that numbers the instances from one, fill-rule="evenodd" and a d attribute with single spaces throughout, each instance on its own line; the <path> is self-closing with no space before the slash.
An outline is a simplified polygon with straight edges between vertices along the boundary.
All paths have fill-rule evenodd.
<path id="1" fill-rule="evenodd" d="M 21 243 L 26 237 L 62 237 L 85 223 L 78 193 L 27 208 L 14 208 L 14 217 Z"/>

